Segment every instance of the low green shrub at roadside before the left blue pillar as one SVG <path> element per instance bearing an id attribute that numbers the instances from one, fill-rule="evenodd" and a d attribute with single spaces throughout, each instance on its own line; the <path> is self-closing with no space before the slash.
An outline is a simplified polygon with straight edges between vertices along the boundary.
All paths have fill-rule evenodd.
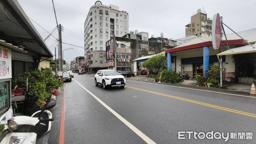
<path id="1" fill-rule="evenodd" d="M 160 74 L 162 73 L 162 74 Z M 160 80 L 161 75 L 161 81 L 165 83 L 178 83 L 182 81 L 183 79 L 180 77 L 180 75 L 177 72 L 169 71 L 167 69 L 162 69 L 159 74 L 157 74 L 156 80 Z"/>

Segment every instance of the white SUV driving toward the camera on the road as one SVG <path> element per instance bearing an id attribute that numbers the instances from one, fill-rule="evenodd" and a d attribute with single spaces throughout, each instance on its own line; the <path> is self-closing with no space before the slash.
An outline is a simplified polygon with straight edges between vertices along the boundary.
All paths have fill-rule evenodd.
<path id="1" fill-rule="evenodd" d="M 95 75 L 94 81 L 96 86 L 102 84 L 103 89 L 111 86 L 125 87 L 125 77 L 111 69 L 99 70 Z"/>

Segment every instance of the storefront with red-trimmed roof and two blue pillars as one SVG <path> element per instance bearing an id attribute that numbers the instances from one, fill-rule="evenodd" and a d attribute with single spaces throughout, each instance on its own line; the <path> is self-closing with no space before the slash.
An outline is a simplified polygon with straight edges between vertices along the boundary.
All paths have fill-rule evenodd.
<path id="1" fill-rule="evenodd" d="M 246 45 L 242 39 L 221 41 L 224 45 L 227 45 L 227 42 L 230 48 Z M 174 64 L 169 65 L 168 69 L 172 69 L 175 72 L 181 72 L 181 74 L 188 74 L 189 77 L 194 78 L 197 74 L 203 75 L 205 65 L 218 65 L 217 54 L 225 50 L 227 50 L 227 48 L 224 46 L 221 51 L 214 50 L 212 48 L 211 38 L 194 37 L 187 43 L 166 50 L 167 62 L 172 63 L 172 60 L 174 59 Z M 223 56 L 222 61 L 223 66 L 226 68 L 226 72 L 234 72 L 235 66 L 232 55 L 226 57 Z"/>

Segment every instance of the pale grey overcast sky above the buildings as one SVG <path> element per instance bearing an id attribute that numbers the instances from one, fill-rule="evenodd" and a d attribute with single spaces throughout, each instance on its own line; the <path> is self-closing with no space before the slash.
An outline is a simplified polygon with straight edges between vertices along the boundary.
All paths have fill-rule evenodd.
<path id="1" fill-rule="evenodd" d="M 55 26 L 52 0 L 18 0 L 26 14 L 51 32 Z M 84 21 L 96 0 L 54 0 L 58 23 L 64 26 L 62 40 L 78 46 L 84 46 Z M 101 0 L 103 5 L 116 5 L 119 10 L 129 13 L 129 31 L 138 29 L 151 35 L 178 39 L 185 37 L 185 25 L 197 9 L 205 10 L 207 17 L 219 13 L 223 22 L 236 32 L 256 28 L 256 0 Z M 33 22 L 32 22 L 33 23 Z M 47 33 L 34 23 L 42 35 Z M 227 33 L 232 33 L 225 29 Z M 73 33 L 72 33 L 73 32 Z M 55 37 L 58 38 L 57 32 Z M 72 36 L 71 36 L 72 35 Z M 73 37 L 73 36 L 76 36 Z M 54 54 L 56 40 L 49 37 L 48 47 Z M 74 48 L 64 52 L 64 59 L 73 60 L 84 56 L 84 49 L 63 44 L 63 49 Z"/>

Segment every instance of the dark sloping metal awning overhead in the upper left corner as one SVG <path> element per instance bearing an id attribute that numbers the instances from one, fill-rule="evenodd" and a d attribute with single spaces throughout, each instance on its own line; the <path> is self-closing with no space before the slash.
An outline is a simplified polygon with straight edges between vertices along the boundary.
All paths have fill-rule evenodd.
<path id="1" fill-rule="evenodd" d="M 0 0 L 0 39 L 18 46 L 28 54 L 53 57 L 17 0 Z"/>

